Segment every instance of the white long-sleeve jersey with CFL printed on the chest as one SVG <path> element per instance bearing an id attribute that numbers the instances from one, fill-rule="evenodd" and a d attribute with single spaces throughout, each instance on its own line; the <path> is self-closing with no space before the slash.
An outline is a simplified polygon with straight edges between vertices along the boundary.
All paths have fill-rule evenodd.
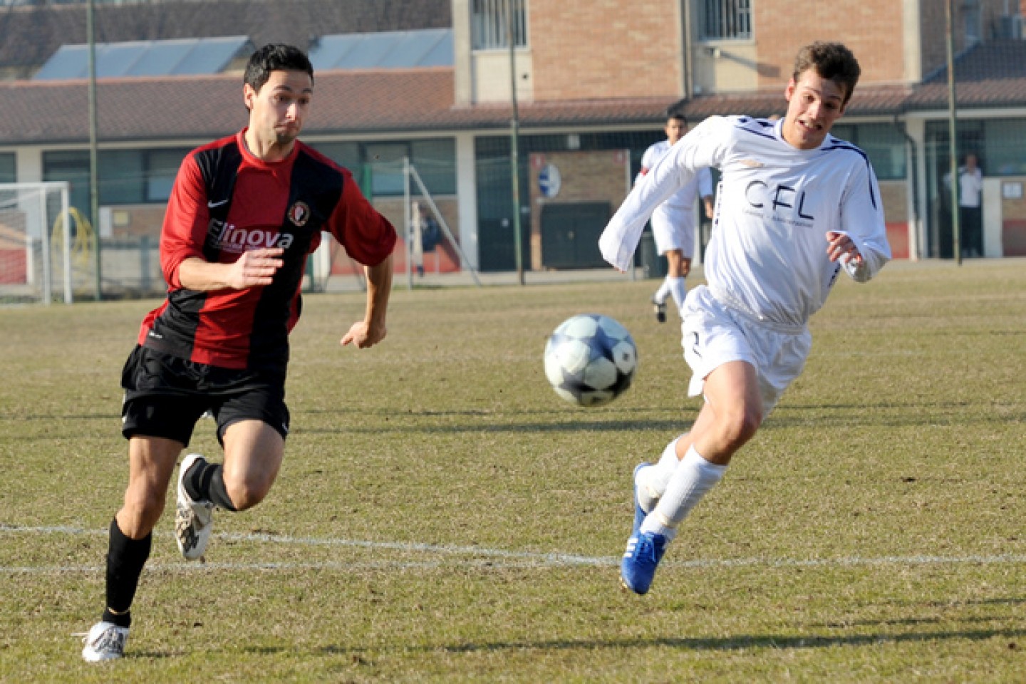
<path id="1" fill-rule="evenodd" d="M 652 212 L 706 166 L 720 170 L 705 275 L 717 298 L 759 320 L 804 326 L 843 266 L 858 282 L 891 259 L 876 175 L 865 153 L 827 135 L 798 150 L 778 122 L 711 117 L 634 187 L 599 238 L 626 271 Z M 846 234 L 862 260 L 831 261 L 828 232 Z"/>

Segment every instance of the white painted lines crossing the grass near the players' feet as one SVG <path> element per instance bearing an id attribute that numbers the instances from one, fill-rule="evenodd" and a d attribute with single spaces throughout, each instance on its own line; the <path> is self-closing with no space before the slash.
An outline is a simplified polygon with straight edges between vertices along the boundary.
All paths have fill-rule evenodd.
<path id="1" fill-rule="evenodd" d="M 107 536 L 106 529 L 82 529 L 78 527 L 19 527 L 0 524 L 0 534 L 68 534 L 73 536 Z M 166 534 L 170 536 L 170 534 Z M 545 568 L 570 566 L 616 566 L 620 563 L 619 556 L 577 556 L 562 553 L 538 553 L 527 551 L 507 551 L 503 549 L 482 549 L 479 547 L 456 547 L 431 544 L 410 544 L 402 541 L 364 541 L 359 539 L 342 539 L 336 537 L 298 537 L 284 534 L 264 533 L 215 533 L 214 537 L 229 541 L 255 544 L 273 544 L 297 547 L 342 547 L 383 551 L 398 551 L 423 555 L 439 556 L 470 556 L 469 560 L 461 560 L 461 565 L 487 568 Z M 497 560 L 498 559 L 498 560 Z M 726 558 L 726 559 L 694 559 L 683 561 L 668 561 L 669 567 L 684 568 L 738 568 L 738 567 L 853 567 L 853 566 L 884 566 L 884 565 L 1021 565 L 1026 564 L 1026 555 L 969 555 L 969 556 L 880 556 L 866 558 L 862 556 L 835 558 Z M 260 562 L 250 563 L 150 563 L 150 570 L 319 570 L 319 569 L 407 569 L 436 568 L 451 565 L 443 560 L 422 561 L 319 561 L 319 562 Z M 75 573 L 102 572 L 100 565 L 43 565 L 43 566 L 0 566 L 0 574 L 44 574 L 44 573 Z"/>

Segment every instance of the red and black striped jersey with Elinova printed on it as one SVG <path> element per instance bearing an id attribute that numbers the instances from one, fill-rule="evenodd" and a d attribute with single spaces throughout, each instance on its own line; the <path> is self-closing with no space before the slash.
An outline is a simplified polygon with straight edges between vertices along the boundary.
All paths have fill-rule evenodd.
<path id="1" fill-rule="evenodd" d="M 139 344 L 223 368 L 284 372 L 307 257 L 321 231 L 366 266 L 392 253 L 396 232 L 347 169 L 299 140 L 287 158 L 262 161 L 244 134 L 183 161 L 160 236 L 167 299 L 144 319 Z M 230 264 L 245 250 L 275 246 L 284 248 L 284 266 L 270 285 L 198 291 L 179 279 L 187 258 Z"/>

